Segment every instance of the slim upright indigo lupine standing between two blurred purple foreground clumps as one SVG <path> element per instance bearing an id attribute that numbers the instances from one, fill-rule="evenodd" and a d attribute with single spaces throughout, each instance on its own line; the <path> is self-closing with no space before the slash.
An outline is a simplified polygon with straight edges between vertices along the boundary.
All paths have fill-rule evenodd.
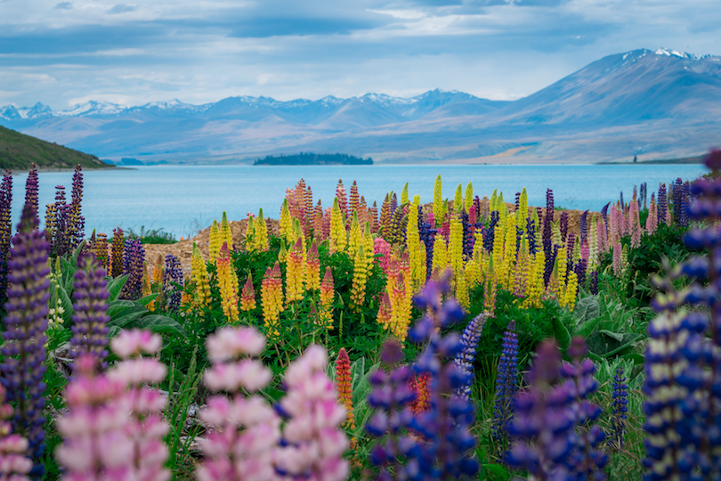
<path id="1" fill-rule="evenodd" d="M 513 400 L 517 390 L 518 335 L 515 333 L 515 321 L 511 320 L 503 334 L 503 350 L 496 373 L 496 406 L 491 427 L 493 439 L 502 451 L 506 451 L 508 422 L 513 417 Z"/>

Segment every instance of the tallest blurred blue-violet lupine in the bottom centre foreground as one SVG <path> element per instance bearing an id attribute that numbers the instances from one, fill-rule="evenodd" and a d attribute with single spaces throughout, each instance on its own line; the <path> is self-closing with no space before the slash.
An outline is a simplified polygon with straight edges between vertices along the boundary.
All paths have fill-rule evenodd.
<path id="1" fill-rule="evenodd" d="M 430 409 L 419 412 L 413 428 L 429 443 L 419 446 L 422 458 L 428 461 L 419 470 L 425 476 L 439 479 L 474 477 L 480 468 L 474 459 L 474 437 L 470 426 L 474 422 L 474 406 L 470 401 L 452 393 L 467 383 L 467 374 L 451 360 L 461 350 L 458 333 L 442 336 L 440 330 L 463 319 L 464 314 L 455 299 L 445 303 L 441 299 L 450 289 L 450 272 L 441 281 L 428 281 L 414 298 L 424 317 L 411 330 L 409 338 L 427 343 L 413 366 L 417 374 L 428 374 Z"/>

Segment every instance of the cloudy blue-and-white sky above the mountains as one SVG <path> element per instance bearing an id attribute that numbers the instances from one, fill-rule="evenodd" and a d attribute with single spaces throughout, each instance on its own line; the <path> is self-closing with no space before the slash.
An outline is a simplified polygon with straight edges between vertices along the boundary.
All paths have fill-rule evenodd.
<path id="1" fill-rule="evenodd" d="M 128 3 L 117 3 L 126 1 Z M 533 94 L 613 53 L 721 54 L 719 0 L 0 0 L 0 106 Z"/>

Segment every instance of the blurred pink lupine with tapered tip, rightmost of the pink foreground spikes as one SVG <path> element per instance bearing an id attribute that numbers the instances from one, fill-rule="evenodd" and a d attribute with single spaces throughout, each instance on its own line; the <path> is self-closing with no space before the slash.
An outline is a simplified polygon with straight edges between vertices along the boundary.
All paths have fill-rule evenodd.
<path id="1" fill-rule="evenodd" d="M 279 448 L 276 465 L 290 479 L 342 481 L 348 476 L 348 447 L 341 424 L 345 408 L 338 403 L 326 374 L 328 357 L 321 346 L 310 346 L 288 366 L 288 394 L 280 410 L 288 416 L 283 429 L 286 446 Z"/>

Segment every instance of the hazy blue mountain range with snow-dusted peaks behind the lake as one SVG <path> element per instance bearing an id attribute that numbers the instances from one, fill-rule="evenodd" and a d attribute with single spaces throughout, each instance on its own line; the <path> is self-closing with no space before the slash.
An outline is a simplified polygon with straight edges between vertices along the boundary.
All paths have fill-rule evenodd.
<path id="1" fill-rule="evenodd" d="M 0 108 L 0 125 L 102 159 L 252 162 L 344 152 L 378 162 L 673 159 L 721 145 L 721 56 L 641 49 L 594 61 L 514 102 L 433 90 L 279 102 L 230 97 L 69 110 Z"/>

